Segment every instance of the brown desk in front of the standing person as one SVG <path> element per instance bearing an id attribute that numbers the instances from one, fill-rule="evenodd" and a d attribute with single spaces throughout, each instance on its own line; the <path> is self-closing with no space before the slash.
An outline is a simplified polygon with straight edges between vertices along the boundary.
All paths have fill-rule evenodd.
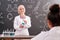
<path id="1" fill-rule="evenodd" d="M 11 37 L 0 37 L 0 39 L 3 39 L 3 40 L 13 40 L 13 39 L 26 39 L 26 40 L 30 40 L 31 38 L 33 38 L 34 36 L 11 36 Z"/>

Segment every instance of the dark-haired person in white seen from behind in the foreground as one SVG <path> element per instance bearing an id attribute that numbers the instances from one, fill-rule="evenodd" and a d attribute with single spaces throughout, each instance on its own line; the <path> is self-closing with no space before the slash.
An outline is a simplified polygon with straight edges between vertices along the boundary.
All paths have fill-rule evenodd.
<path id="1" fill-rule="evenodd" d="M 47 22 L 50 30 L 41 32 L 31 40 L 60 40 L 60 7 L 58 4 L 54 4 L 49 10 Z"/>

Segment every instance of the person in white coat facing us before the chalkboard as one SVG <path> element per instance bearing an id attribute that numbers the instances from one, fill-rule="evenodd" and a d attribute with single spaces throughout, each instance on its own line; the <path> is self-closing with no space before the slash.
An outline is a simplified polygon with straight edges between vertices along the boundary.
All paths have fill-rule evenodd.
<path id="1" fill-rule="evenodd" d="M 29 35 L 28 28 L 31 27 L 31 18 L 25 14 L 24 5 L 18 6 L 18 16 L 14 19 L 15 35 Z"/>

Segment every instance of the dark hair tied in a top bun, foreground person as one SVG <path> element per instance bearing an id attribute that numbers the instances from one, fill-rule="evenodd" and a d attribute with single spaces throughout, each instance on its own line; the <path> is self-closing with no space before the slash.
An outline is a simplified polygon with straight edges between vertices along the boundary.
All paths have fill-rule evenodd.
<path id="1" fill-rule="evenodd" d="M 60 26 L 60 7 L 58 4 L 54 4 L 49 8 L 48 20 L 52 22 L 53 26 Z"/>

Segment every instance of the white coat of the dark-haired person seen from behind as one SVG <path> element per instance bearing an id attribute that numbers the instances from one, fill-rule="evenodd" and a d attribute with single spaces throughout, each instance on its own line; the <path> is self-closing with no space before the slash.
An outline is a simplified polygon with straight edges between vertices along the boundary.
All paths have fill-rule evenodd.
<path id="1" fill-rule="evenodd" d="M 60 40 L 60 26 L 53 27 L 47 32 L 41 32 L 31 40 Z"/>

